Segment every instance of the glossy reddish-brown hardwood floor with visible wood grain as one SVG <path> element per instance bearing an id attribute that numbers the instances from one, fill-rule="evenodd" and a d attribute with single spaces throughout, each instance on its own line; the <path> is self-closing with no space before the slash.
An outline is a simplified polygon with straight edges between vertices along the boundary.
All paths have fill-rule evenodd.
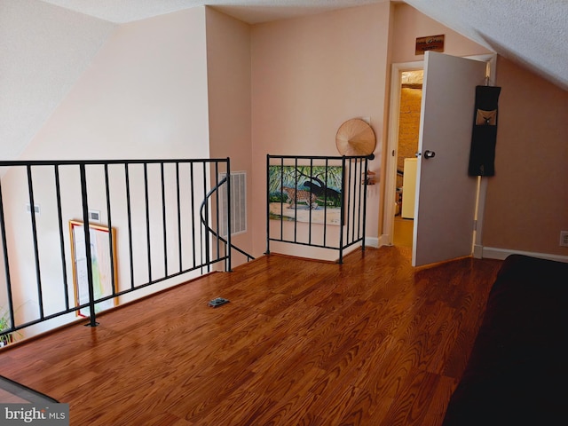
<path id="1" fill-rule="evenodd" d="M 264 256 L 4 348 L 0 375 L 69 403 L 72 425 L 436 426 L 500 266 Z"/>

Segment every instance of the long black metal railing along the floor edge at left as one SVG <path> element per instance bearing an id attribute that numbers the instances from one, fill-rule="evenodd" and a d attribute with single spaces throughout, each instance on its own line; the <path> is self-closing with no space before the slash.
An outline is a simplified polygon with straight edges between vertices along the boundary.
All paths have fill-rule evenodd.
<path id="1" fill-rule="evenodd" d="M 0 343 L 76 316 L 96 326 L 135 290 L 231 270 L 230 220 L 218 232 L 231 192 L 223 206 L 210 198 L 228 158 L 0 162 L 0 173 Z"/>

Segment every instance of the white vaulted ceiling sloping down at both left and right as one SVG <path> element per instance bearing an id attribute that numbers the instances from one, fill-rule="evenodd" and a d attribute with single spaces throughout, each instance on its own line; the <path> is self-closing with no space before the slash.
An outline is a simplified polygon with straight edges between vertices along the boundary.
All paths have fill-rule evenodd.
<path id="1" fill-rule="evenodd" d="M 17 158 L 117 25 L 203 4 L 256 24 L 385 1 L 388 0 L 0 0 L 0 92 L 4 98 L 0 100 L 0 158 Z M 566 0 L 393 3 L 410 4 L 462 36 L 568 90 Z M 50 17 L 49 23 L 45 16 Z M 48 41 L 61 46 L 57 60 L 49 51 L 43 57 L 28 53 L 41 50 L 37 43 Z M 27 45 L 33 45 L 33 49 Z M 81 51 L 80 57 L 77 51 Z M 15 52 L 18 67 L 10 63 Z M 49 87 L 32 78 L 38 69 L 51 79 Z M 32 105 L 26 95 L 40 100 Z M 16 116 L 22 111 L 25 114 Z"/>

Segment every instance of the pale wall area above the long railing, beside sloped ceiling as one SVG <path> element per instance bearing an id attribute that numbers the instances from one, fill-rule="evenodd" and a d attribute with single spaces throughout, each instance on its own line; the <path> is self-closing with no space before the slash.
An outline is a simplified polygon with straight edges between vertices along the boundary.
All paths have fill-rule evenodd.
<path id="1" fill-rule="evenodd" d="M 117 28 L 22 159 L 207 157 L 205 10 Z"/>

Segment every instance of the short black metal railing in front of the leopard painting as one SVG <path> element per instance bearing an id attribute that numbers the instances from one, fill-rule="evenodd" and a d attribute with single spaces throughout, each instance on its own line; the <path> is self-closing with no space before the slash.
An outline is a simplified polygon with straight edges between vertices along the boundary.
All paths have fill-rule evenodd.
<path id="1" fill-rule="evenodd" d="M 367 156 L 267 155 L 266 253 L 271 241 L 365 249 Z"/>

